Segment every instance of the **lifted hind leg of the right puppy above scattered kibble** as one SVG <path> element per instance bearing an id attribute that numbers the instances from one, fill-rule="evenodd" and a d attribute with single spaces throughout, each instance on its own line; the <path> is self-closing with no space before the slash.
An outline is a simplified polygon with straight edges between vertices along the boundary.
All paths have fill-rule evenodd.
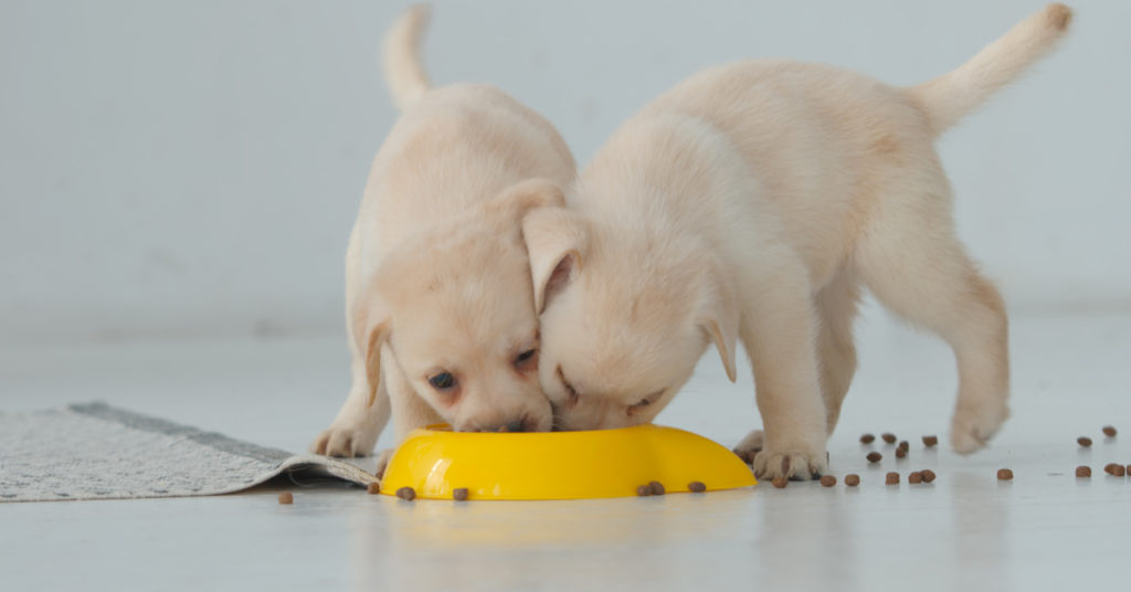
<path id="1" fill-rule="evenodd" d="M 944 180 L 940 187 L 887 199 L 861 235 L 856 267 L 886 307 L 953 349 L 959 386 L 950 440 L 968 454 L 1009 415 L 1008 321 L 998 290 L 955 237 Z"/>

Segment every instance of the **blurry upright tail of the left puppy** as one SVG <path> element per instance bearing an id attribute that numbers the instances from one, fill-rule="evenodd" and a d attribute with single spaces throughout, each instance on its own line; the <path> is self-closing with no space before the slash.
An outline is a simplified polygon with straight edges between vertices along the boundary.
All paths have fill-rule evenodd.
<path id="1" fill-rule="evenodd" d="M 397 109 L 404 111 L 421 97 L 432 84 L 421 65 L 420 45 L 428 28 L 431 7 L 411 7 L 385 35 L 385 79 Z"/>

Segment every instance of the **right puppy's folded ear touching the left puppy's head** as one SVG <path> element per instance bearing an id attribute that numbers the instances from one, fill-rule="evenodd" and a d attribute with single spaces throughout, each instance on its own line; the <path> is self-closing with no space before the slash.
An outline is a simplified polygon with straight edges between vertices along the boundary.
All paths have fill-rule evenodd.
<path id="1" fill-rule="evenodd" d="M 523 217 L 523 240 L 530 258 L 534 310 L 541 315 L 550 299 L 581 272 L 588 232 L 581 218 L 561 207 L 545 207 Z"/>

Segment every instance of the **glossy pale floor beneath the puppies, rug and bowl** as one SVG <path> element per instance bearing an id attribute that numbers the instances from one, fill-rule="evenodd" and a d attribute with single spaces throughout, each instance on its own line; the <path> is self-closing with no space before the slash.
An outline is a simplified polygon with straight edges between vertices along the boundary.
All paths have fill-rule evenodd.
<path id="1" fill-rule="evenodd" d="M 1131 552 L 1131 315 L 1015 318 L 1013 419 L 990 449 L 946 440 L 956 383 L 941 344 L 878 311 L 830 441 L 857 489 L 569 503 L 415 504 L 357 489 L 293 488 L 138 501 L 0 504 L 0 589 L 1082 590 L 1125 589 Z M 101 398 L 291 451 L 305 447 L 346 388 L 337 340 L 0 351 L 0 409 Z M 661 417 L 732 445 L 758 424 L 749 376 L 705 358 Z M 1104 424 L 1123 434 L 1114 440 Z M 866 466 L 863 431 L 912 441 Z M 1081 435 L 1091 449 L 1076 444 Z M 1078 464 L 1090 480 L 1073 477 Z M 1008 466 L 1012 482 L 994 473 Z M 933 469 L 931 486 L 883 484 Z"/>

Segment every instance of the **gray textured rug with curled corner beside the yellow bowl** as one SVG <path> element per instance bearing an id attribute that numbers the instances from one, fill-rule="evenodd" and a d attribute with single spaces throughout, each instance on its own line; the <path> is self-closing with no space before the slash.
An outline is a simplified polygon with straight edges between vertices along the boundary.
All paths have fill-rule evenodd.
<path id="1" fill-rule="evenodd" d="M 297 483 L 375 481 L 344 461 L 292 455 L 105 403 L 0 413 L 0 501 L 211 496 L 280 474 Z"/>

